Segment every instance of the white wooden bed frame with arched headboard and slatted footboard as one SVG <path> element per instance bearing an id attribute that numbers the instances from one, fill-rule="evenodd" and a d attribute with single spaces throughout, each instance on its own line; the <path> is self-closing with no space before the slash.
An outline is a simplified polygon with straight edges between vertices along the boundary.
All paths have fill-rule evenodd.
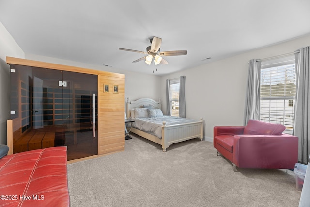
<path id="1" fill-rule="evenodd" d="M 152 105 L 155 108 L 161 109 L 160 99 L 155 101 L 151 98 L 140 98 L 136 101 L 130 101 L 127 98 L 127 117 L 131 117 L 130 109 L 140 108 L 142 105 Z M 200 118 L 200 121 L 184 123 L 184 124 L 175 124 L 167 125 L 163 121 L 162 127 L 162 138 L 158 138 L 152 134 L 141 131 L 137 128 L 132 128 L 131 132 L 140 135 L 143 138 L 151 140 L 152 142 L 158 143 L 162 146 L 163 152 L 167 151 L 167 148 L 173 143 L 183 142 L 185 140 L 190 140 L 194 138 L 203 139 L 203 119 Z"/>

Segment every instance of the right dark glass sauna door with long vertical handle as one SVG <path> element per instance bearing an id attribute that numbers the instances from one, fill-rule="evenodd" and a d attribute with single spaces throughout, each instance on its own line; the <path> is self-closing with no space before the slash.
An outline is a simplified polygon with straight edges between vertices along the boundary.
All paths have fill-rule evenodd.
<path id="1" fill-rule="evenodd" d="M 65 144 L 68 160 L 98 154 L 97 75 L 63 72 L 62 119 L 65 121 Z"/>

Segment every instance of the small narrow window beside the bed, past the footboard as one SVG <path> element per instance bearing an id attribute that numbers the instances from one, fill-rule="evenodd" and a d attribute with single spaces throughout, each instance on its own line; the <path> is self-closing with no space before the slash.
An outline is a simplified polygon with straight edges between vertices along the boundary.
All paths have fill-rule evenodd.
<path id="1" fill-rule="evenodd" d="M 180 79 L 170 80 L 170 104 L 171 116 L 179 117 L 179 94 L 180 94 Z"/>

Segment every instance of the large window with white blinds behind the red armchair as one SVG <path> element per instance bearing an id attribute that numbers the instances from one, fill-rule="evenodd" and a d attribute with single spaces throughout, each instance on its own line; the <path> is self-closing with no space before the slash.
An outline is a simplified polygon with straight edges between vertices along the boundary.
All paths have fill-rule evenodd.
<path id="1" fill-rule="evenodd" d="M 295 56 L 261 64 L 261 121 L 293 129 L 296 95 Z"/>

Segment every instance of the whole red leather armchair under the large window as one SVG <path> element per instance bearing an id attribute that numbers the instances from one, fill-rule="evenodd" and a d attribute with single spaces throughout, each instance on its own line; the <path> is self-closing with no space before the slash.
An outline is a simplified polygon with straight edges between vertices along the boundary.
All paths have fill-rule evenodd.
<path id="1" fill-rule="evenodd" d="M 294 169 L 298 137 L 283 134 L 284 125 L 249 120 L 247 126 L 214 127 L 213 145 L 239 168 Z"/>

